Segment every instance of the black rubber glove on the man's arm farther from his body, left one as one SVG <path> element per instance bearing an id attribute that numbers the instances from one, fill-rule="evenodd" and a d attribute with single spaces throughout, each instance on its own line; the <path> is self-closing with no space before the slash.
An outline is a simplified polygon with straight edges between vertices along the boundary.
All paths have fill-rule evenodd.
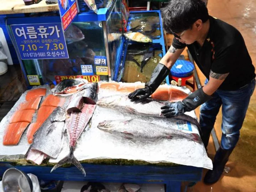
<path id="1" fill-rule="evenodd" d="M 139 100 L 150 97 L 150 95 L 155 92 L 155 90 L 169 74 L 170 69 L 159 63 L 153 71 L 150 81 L 145 84 L 145 88 L 135 90 L 134 92 L 130 93 L 128 97 L 132 100 L 136 99 L 137 97 L 139 97 Z"/>

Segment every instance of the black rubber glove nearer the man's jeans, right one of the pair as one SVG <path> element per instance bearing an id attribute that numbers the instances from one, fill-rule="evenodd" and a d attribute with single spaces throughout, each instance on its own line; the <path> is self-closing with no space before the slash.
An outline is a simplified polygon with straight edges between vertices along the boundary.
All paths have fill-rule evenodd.
<path id="1" fill-rule="evenodd" d="M 167 103 L 165 106 L 162 106 L 162 114 L 167 118 L 178 116 L 196 109 L 198 106 L 210 100 L 210 98 L 212 97 L 206 95 L 203 89 L 200 88 L 183 99 L 183 101 Z"/>

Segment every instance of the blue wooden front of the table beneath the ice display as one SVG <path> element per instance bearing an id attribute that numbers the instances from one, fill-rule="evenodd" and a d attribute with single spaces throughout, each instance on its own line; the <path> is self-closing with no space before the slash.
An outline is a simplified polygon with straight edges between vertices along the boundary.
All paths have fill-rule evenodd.
<path id="1" fill-rule="evenodd" d="M 25 162 L 25 161 L 24 161 Z M 98 181 L 126 183 L 159 183 L 166 185 L 166 192 L 180 191 L 184 181 L 197 182 L 202 178 L 202 168 L 180 166 L 172 163 L 149 164 L 133 160 L 87 160 L 82 161 L 86 177 L 75 167 L 59 167 L 50 173 L 51 166 L 32 166 L 20 163 L 0 162 L 0 175 L 9 167 L 32 173 L 42 180 Z"/>

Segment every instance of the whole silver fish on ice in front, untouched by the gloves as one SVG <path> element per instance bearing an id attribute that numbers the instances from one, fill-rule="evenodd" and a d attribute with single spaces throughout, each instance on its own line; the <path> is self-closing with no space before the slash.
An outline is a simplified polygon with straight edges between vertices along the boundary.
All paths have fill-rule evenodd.
<path id="1" fill-rule="evenodd" d="M 160 139 L 188 139 L 200 143 L 201 138 L 195 133 L 184 133 L 176 129 L 166 128 L 157 124 L 142 122 L 135 119 L 103 121 L 98 124 L 102 131 L 119 137 L 140 141 L 158 141 Z"/>

